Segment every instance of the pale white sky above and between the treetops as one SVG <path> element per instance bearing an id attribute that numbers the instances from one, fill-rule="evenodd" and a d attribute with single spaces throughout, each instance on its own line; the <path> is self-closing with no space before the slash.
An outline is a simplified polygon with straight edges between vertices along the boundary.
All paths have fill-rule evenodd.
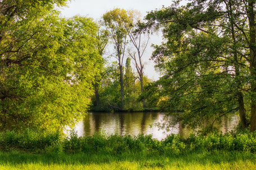
<path id="1" fill-rule="evenodd" d="M 76 15 L 91 17 L 95 21 L 99 20 L 109 10 L 114 8 L 124 8 L 125 10 L 138 10 L 142 16 L 147 15 L 147 12 L 162 8 L 162 6 L 171 6 L 171 0 L 73 0 L 67 4 L 67 7 L 62 7 L 60 9 L 61 15 L 63 17 L 73 17 Z M 153 35 L 150 38 L 149 45 L 145 54 L 143 56 L 143 61 L 145 63 L 144 75 L 148 78 L 156 81 L 159 78 L 159 73 L 154 70 L 154 63 L 150 59 L 153 48 L 151 44 L 161 44 L 162 37 L 161 34 Z M 135 69 L 134 69 L 135 70 Z"/>

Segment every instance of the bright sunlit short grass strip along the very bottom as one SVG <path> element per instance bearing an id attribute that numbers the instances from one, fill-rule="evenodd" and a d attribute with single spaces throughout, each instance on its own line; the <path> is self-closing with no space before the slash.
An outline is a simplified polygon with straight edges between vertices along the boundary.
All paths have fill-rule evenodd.
<path id="1" fill-rule="evenodd" d="M 179 155 L 0 153 L 0 169 L 256 169 L 249 152 L 191 152 Z"/>

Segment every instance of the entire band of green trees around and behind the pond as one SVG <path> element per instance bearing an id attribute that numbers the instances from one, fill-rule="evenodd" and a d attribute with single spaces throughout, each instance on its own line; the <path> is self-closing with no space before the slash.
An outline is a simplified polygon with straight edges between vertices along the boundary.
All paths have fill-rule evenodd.
<path id="1" fill-rule="evenodd" d="M 56 7 L 65 3 L 0 2 L 0 130 L 62 130 L 90 106 L 157 106 L 175 118 L 164 128 L 200 129 L 208 120 L 210 130 L 235 111 L 241 129 L 256 130 L 255 1 L 175 1 L 145 22 L 116 8 L 98 23 L 62 18 Z M 156 30 L 163 43 L 153 45 L 152 59 L 163 77 L 151 82 L 143 56 Z"/>

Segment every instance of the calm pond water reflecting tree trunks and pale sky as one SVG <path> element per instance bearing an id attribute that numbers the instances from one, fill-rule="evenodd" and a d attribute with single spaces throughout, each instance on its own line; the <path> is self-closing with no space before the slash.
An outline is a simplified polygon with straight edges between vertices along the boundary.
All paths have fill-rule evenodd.
<path id="1" fill-rule="evenodd" d="M 170 131 L 158 129 L 156 123 L 162 122 L 164 113 L 161 112 L 90 112 L 84 120 L 77 124 L 75 130 L 79 136 L 93 135 L 95 132 L 103 130 L 107 134 L 152 134 L 153 138 L 159 140 L 166 138 L 168 134 L 180 134 L 189 136 L 191 130 L 184 129 L 181 124 L 176 125 Z M 235 114 L 222 117 L 220 122 L 216 122 L 216 128 L 226 133 L 237 125 L 238 117 Z M 207 122 L 205 122 L 207 124 Z"/>

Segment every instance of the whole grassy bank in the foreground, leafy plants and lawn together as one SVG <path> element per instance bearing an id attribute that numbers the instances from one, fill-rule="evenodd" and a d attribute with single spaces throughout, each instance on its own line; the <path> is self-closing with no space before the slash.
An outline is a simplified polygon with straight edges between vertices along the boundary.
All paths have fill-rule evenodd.
<path id="1" fill-rule="evenodd" d="M 0 169 L 256 169 L 256 133 L 150 135 L 0 133 Z"/>

